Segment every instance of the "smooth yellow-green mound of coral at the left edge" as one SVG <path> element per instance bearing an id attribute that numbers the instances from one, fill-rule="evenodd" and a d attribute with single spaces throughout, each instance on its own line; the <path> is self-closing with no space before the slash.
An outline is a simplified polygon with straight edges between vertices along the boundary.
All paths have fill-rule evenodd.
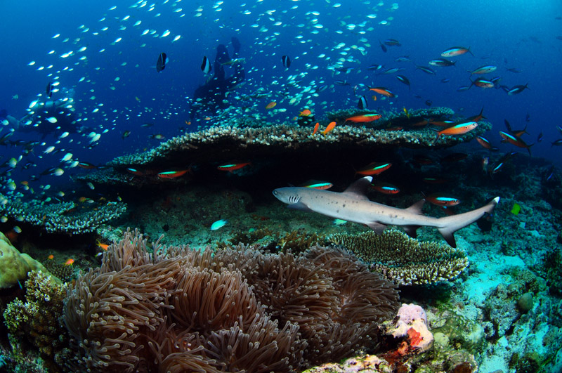
<path id="1" fill-rule="evenodd" d="M 27 254 L 21 254 L 6 236 L 0 233 L 0 289 L 7 289 L 18 283 L 21 286 L 28 273 L 34 270 L 48 274 L 48 270 L 41 263 Z M 54 276 L 51 280 L 60 284 L 60 280 Z"/>

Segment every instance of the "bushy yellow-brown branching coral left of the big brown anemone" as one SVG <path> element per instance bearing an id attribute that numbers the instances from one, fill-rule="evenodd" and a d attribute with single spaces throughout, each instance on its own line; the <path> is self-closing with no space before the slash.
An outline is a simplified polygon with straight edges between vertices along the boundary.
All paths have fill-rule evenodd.
<path id="1" fill-rule="evenodd" d="M 63 310 L 66 286 L 55 282 L 51 275 L 31 271 L 25 281 L 25 302 L 15 299 L 4 311 L 4 324 L 17 344 L 14 351 L 35 346 L 46 365 L 53 367 L 55 355 L 67 346 Z"/>

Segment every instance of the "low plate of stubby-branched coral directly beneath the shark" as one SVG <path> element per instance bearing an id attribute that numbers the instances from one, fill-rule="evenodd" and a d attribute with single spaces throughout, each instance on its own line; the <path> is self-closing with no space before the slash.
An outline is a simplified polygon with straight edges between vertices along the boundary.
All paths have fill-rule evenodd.
<path id="1" fill-rule="evenodd" d="M 431 284 L 457 277 L 469 261 L 464 251 L 445 244 L 419 242 L 398 230 L 327 237 L 353 252 L 388 280 L 398 285 Z"/>

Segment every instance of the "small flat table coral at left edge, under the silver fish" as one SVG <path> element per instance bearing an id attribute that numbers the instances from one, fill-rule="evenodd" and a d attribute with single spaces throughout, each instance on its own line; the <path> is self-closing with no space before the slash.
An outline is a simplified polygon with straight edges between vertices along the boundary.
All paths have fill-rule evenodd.
<path id="1" fill-rule="evenodd" d="M 123 202 L 107 202 L 95 208 L 79 208 L 74 202 L 45 204 L 37 200 L 20 202 L 0 195 L 0 214 L 35 225 L 48 233 L 82 234 L 96 230 L 126 211 Z"/>

